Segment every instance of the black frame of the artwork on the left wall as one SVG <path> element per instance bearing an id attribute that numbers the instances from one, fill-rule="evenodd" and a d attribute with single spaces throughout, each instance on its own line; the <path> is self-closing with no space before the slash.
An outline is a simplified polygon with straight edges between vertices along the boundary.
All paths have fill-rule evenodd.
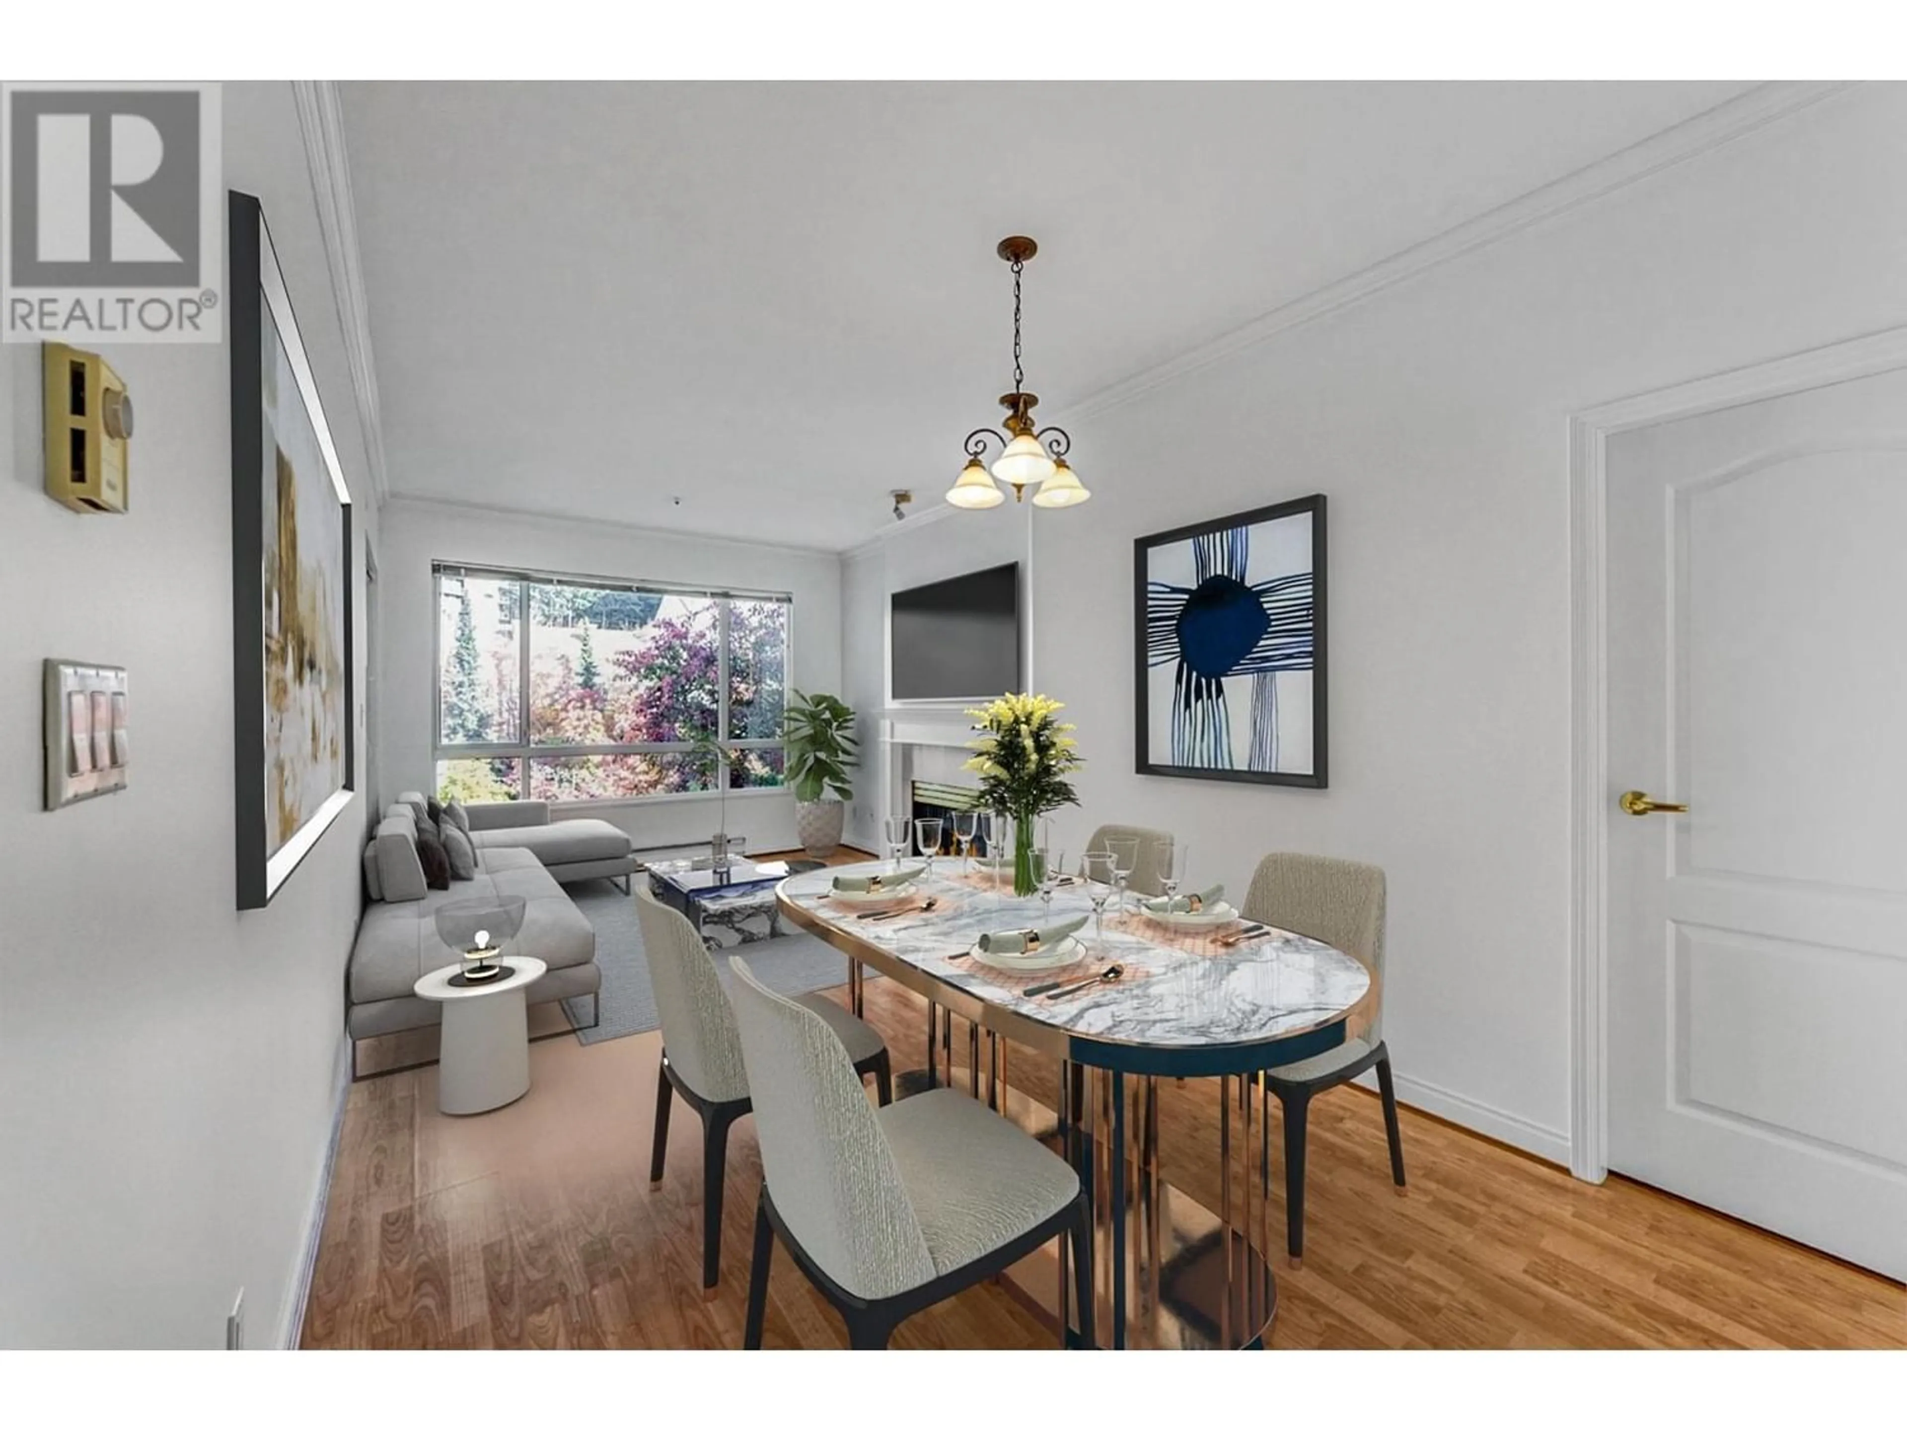
<path id="1" fill-rule="evenodd" d="M 317 378 L 292 313 L 292 297 L 278 267 L 278 254 L 257 198 L 238 191 L 227 194 L 227 238 L 231 282 L 227 284 L 227 343 L 231 345 L 231 421 L 233 421 L 233 755 L 236 772 L 236 892 L 240 909 L 261 909 L 286 885 L 305 856 L 317 848 L 326 829 L 351 805 L 357 787 L 357 648 L 353 587 L 357 583 L 351 540 L 351 490 L 338 463 L 338 448 L 324 421 Z M 324 477 L 338 498 L 341 629 L 324 635 L 336 641 L 343 696 L 341 784 L 277 845 L 271 837 L 271 738 L 269 738 L 269 656 L 265 582 L 265 404 L 267 353 L 265 322 L 277 330 L 278 347 L 290 364 L 296 398 L 311 421 L 311 437 Z M 277 368 L 273 370 L 277 381 Z M 280 400 L 290 400 L 280 395 Z M 277 456 L 282 456 L 282 448 Z M 275 463 L 277 465 L 277 463 Z M 277 492 L 273 494 L 277 503 Z M 296 509 L 294 509 L 296 521 Z M 320 644 L 324 644 L 320 641 Z"/>

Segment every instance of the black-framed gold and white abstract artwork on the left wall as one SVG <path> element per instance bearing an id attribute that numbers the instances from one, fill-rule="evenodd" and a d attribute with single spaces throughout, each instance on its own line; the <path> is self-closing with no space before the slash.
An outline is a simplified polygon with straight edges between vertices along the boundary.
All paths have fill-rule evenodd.
<path id="1" fill-rule="evenodd" d="M 351 803 L 351 490 L 265 214 L 229 196 L 238 908 Z"/>

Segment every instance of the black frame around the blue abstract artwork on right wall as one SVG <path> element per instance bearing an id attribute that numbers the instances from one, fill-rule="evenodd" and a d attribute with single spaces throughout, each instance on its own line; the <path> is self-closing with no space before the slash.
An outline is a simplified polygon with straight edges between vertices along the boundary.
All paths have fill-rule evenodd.
<path id="1" fill-rule="evenodd" d="M 1310 671 L 1310 766 L 1304 770 L 1280 770 L 1280 768 L 1236 768 L 1230 765 L 1203 765 L 1203 763 L 1175 763 L 1171 759 L 1158 759 L 1158 749 L 1154 749 L 1154 730 L 1152 730 L 1152 679 L 1150 671 L 1161 664 L 1167 664 L 1171 656 L 1161 658 L 1167 648 L 1179 648 L 1179 623 L 1171 616 L 1173 597 L 1167 595 L 1161 601 L 1154 601 L 1150 589 L 1150 566 L 1152 553 L 1159 547 L 1192 543 L 1198 538 L 1215 536 L 1219 532 L 1230 532 L 1249 526 L 1262 526 L 1268 522 L 1285 521 L 1291 517 L 1310 517 L 1310 604 L 1308 604 L 1308 664 L 1280 664 L 1276 669 L 1308 669 Z M 1295 786 L 1302 789 L 1325 789 L 1329 787 L 1329 702 L 1327 702 L 1327 652 L 1329 643 L 1325 639 L 1325 500 L 1323 494 L 1301 496 L 1291 501 L 1280 501 L 1268 507 L 1255 507 L 1253 511 L 1241 511 L 1230 517 L 1215 517 L 1213 521 L 1194 522 L 1190 526 L 1175 526 L 1169 532 L 1156 532 L 1154 536 L 1140 536 L 1133 541 L 1133 730 L 1135 730 L 1135 770 L 1138 774 L 1159 774 L 1179 780 L 1224 780 L 1230 784 L 1272 784 L 1272 786 Z M 1295 580 L 1295 578 L 1289 578 Z M 1257 587 L 1245 587 L 1257 589 Z M 1177 589 L 1180 595 L 1182 589 Z M 1299 614 L 1297 603 L 1301 601 L 1301 587 L 1293 587 L 1293 593 L 1268 597 L 1278 601 L 1276 622 L 1291 623 L 1291 654 L 1280 656 L 1285 662 L 1297 662 L 1301 633 L 1299 633 Z M 1182 603 L 1180 603 L 1182 604 Z M 1169 629 L 1167 629 L 1169 627 Z M 1268 627 L 1270 629 L 1270 627 Z M 1253 656 L 1259 656 L 1253 650 Z M 1184 669 L 1182 650 L 1179 654 L 1180 669 L 1175 673 L 1175 681 L 1198 683 L 1196 673 Z M 1276 671 L 1262 671 L 1276 673 Z M 1211 681 L 1203 681 L 1203 688 L 1211 688 Z M 1179 686 L 1175 684 L 1175 700 Z M 1217 702 L 1224 704 L 1224 692 L 1219 690 Z M 1224 711 L 1220 711 L 1224 715 Z"/>

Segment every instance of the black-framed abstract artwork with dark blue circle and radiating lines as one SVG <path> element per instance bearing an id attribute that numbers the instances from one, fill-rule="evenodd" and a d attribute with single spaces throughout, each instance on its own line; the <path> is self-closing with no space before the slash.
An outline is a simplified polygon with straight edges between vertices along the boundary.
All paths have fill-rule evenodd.
<path id="1" fill-rule="evenodd" d="M 1323 496 L 1133 541 L 1137 768 L 1325 787 Z"/>

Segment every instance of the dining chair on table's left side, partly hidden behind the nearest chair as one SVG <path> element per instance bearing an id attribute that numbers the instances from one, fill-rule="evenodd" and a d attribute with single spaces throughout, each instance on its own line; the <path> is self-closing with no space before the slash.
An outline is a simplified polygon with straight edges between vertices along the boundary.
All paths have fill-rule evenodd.
<path id="1" fill-rule="evenodd" d="M 662 1014 L 662 1070 L 656 1075 L 656 1134 L 648 1154 L 648 1180 L 662 1180 L 662 1161 L 669 1150 L 669 1102 L 681 1096 L 702 1117 L 702 1293 L 713 1297 L 721 1279 L 721 1194 L 728 1129 L 751 1110 L 742 1039 L 734 1009 L 715 972 L 715 959 L 694 925 L 658 904 L 646 889 L 637 889 L 635 917 L 643 929 L 656 1011 Z M 856 1079 L 871 1072 L 881 1102 L 889 1102 L 892 1077 L 881 1035 L 824 993 L 807 993 L 801 1003 L 841 1043 Z"/>

